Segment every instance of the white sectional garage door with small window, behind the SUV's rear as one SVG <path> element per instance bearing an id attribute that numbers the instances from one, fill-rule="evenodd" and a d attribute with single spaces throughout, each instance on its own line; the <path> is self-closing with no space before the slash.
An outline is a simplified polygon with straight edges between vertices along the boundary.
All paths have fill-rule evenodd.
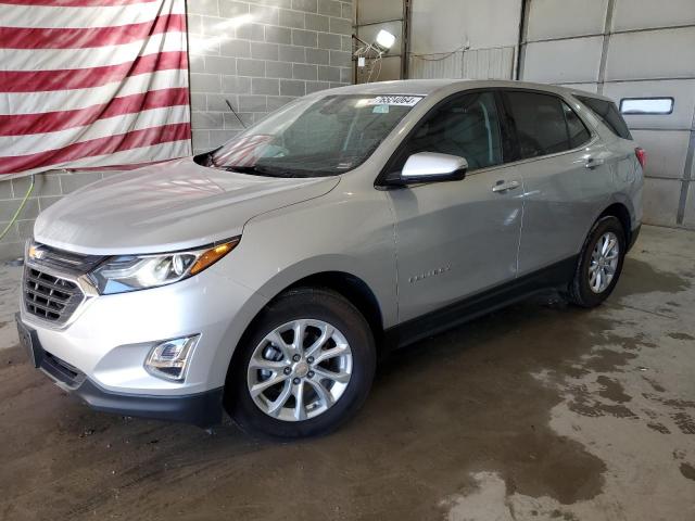
<path id="1" fill-rule="evenodd" d="M 695 228 L 695 0 L 529 0 L 520 78 L 622 98 L 674 98 L 627 115 L 647 150 L 645 221 Z"/>

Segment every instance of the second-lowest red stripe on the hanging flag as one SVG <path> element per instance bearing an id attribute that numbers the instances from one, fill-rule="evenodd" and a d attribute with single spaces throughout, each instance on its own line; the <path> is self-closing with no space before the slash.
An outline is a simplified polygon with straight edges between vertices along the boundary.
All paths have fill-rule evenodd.
<path id="1" fill-rule="evenodd" d="M 99 119 L 177 105 L 188 105 L 188 89 L 186 87 L 123 96 L 114 98 L 109 103 L 74 111 L 0 115 L 0 136 L 55 132 L 66 128 L 91 125 Z"/>

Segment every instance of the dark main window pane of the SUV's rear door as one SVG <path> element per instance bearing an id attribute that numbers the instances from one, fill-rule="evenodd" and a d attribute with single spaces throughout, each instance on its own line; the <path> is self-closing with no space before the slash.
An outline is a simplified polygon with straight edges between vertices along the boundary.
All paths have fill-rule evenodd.
<path id="1" fill-rule="evenodd" d="M 560 99 L 523 91 L 505 92 L 505 97 L 507 114 L 517 134 L 520 158 L 555 154 L 573 148 Z M 581 124 L 581 120 L 578 123 Z"/>

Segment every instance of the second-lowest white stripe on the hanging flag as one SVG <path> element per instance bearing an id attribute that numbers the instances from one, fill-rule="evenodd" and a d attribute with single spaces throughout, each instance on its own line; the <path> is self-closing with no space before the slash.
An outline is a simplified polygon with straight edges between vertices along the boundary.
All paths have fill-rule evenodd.
<path id="1" fill-rule="evenodd" d="M 188 87 L 186 73 L 179 69 L 156 71 L 130 76 L 99 87 L 48 92 L 5 92 L 0 94 L 0 114 L 36 114 L 85 109 L 130 94 L 149 90 Z"/>

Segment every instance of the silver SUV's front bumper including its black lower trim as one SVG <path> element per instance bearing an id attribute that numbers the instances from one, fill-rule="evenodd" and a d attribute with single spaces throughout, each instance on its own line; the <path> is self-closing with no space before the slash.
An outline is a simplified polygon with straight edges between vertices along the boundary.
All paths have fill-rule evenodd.
<path id="1" fill-rule="evenodd" d="M 227 258 L 173 284 L 86 298 L 65 325 L 37 320 L 24 305 L 20 329 L 39 347 L 37 365 L 98 410 L 211 424 L 235 348 L 267 298 L 232 280 Z M 184 381 L 151 374 L 153 345 L 199 335 Z M 72 373 L 72 374 L 71 374 Z"/>

